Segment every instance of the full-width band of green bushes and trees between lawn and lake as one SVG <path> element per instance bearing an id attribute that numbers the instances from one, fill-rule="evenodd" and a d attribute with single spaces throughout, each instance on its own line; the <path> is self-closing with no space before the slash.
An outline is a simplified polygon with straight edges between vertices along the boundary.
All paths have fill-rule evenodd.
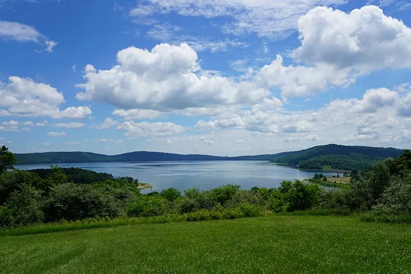
<path id="1" fill-rule="evenodd" d="M 3 165 L 12 168 L 12 164 Z M 239 185 L 227 184 L 211 190 L 192 188 L 181 193 L 169 188 L 143 195 L 138 190 L 138 180 L 114 178 L 108 173 L 58 166 L 34 172 L 3 170 L 0 226 L 170 214 L 188 221 L 232 219 L 261 216 L 266 210 L 281 213 L 307 209 L 411 216 L 408 150 L 395 160 L 390 158 L 361 172 L 352 172 L 346 188 L 327 191 L 320 187 L 324 183 L 330 183 L 327 177 L 314 174 L 308 182 L 284 181 L 280 187 L 271 189 L 243 190 Z"/>

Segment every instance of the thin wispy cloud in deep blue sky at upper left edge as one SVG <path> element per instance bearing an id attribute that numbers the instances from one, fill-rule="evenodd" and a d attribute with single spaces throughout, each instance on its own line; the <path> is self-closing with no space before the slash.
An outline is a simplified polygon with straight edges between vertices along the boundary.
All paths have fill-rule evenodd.
<path id="1" fill-rule="evenodd" d="M 8 21 L 0 21 L 0 38 L 17 42 L 44 43 L 48 52 L 51 52 L 58 44 L 57 42 L 49 40 L 32 26 Z"/>

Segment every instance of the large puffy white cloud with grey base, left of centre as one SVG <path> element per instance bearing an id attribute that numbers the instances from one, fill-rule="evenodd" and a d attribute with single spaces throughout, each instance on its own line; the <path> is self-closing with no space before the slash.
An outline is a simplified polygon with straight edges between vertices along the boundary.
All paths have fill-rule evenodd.
<path id="1" fill-rule="evenodd" d="M 117 54 L 117 66 L 85 68 L 79 100 L 97 100 L 122 109 L 170 111 L 217 104 L 256 103 L 270 92 L 221 76 L 198 76 L 196 52 L 187 44 L 160 44 L 151 51 L 135 47 Z"/>

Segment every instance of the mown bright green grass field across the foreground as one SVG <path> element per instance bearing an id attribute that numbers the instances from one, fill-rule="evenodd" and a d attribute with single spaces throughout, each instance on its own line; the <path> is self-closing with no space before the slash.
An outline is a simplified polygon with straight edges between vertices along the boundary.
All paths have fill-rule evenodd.
<path id="1" fill-rule="evenodd" d="M 268 216 L 0 237 L 2 273 L 409 273 L 411 227 Z"/>

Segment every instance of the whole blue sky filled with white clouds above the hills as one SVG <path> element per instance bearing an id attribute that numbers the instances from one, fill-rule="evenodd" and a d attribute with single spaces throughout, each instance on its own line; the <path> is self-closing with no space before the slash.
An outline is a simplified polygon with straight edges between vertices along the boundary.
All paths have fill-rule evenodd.
<path id="1" fill-rule="evenodd" d="M 15 153 L 411 148 L 406 0 L 0 0 Z"/>

